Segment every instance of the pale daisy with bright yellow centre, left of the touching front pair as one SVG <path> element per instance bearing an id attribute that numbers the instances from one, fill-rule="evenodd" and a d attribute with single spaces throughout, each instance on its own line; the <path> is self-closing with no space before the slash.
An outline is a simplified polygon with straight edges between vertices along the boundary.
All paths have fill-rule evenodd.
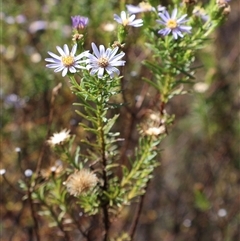
<path id="1" fill-rule="evenodd" d="M 67 72 L 76 73 L 77 69 L 85 69 L 84 66 L 80 65 L 81 63 L 85 63 L 86 60 L 80 60 L 86 56 L 88 51 L 85 51 L 77 56 L 75 56 L 77 51 L 77 44 L 72 47 L 72 51 L 69 51 L 69 48 L 66 44 L 64 44 L 63 49 L 59 46 L 56 47 L 60 56 L 48 52 L 48 54 L 52 58 L 46 58 L 45 61 L 50 62 L 46 65 L 47 68 L 55 68 L 54 72 L 62 71 L 62 76 L 64 77 Z"/>

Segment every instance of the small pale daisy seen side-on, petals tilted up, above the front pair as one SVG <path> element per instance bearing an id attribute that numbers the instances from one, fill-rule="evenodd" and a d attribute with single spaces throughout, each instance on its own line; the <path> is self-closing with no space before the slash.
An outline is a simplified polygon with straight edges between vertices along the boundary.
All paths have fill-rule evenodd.
<path id="1" fill-rule="evenodd" d="M 114 20 L 123 26 L 141 27 L 143 25 L 143 20 L 135 18 L 135 14 L 129 16 L 125 11 L 122 11 L 120 16 L 114 14 Z"/>

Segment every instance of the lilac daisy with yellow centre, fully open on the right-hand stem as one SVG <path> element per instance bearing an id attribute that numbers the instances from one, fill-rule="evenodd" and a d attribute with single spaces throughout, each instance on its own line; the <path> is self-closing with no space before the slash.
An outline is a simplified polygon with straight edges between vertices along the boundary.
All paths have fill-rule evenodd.
<path id="1" fill-rule="evenodd" d="M 183 32 L 191 33 L 191 26 L 182 25 L 183 23 L 187 22 L 186 19 L 187 14 L 184 14 L 182 17 L 177 19 L 177 9 L 175 8 L 170 16 L 168 11 L 158 14 L 162 20 L 156 20 L 158 23 L 165 25 L 164 29 L 158 31 L 159 34 L 164 36 L 170 34 L 172 32 L 173 37 L 175 39 L 179 37 L 183 37 Z"/>

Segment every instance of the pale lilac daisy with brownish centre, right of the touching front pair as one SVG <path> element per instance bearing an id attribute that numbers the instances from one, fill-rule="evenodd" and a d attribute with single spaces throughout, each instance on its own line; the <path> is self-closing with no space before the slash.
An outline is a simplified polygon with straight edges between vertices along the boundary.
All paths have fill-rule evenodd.
<path id="1" fill-rule="evenodd" d="M 117 54 L 118 47 L 111 49 L 103 45 L 99 46 L 99 50 L 95 43 L 92 43 L 93 54 L 88 53 L 86 60 L 88 70 L 91 69 L 90 74 L 94 75 L 98 73 L 98 78 L 103 78 L 104 71 L 106 71 L 111 78 L 120 74 L 120 71 L 116 66 L 123 66 L 126 61 L 120 60 L 125 53 L 121 52 Z M 117 54 L 117 55 L 116 55 Z"/>

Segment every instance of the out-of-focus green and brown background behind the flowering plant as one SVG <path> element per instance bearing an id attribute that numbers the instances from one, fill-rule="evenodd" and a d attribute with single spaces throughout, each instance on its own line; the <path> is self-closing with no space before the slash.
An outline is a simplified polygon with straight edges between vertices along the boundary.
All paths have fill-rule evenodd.
<path id="1" fill-rule="evenodd" d="M 63 86 L 55 98 L 51 133 L 63 128 L 79 132 L 79 117 L 72 106 L 75 96 L 67 77 L 45 68 L 47 51 L 56 53 L 57 45 L 71 44 L 74 15 L 90 19 L 86 49 L 92 41 L 107 46 L 116 38 L 113 14 L 119 14 L 119 6 L 124 4 L 117 0 L 2 3 L 0 168 L 6 169 L 5 176 L 15 188 L 25 169 L 36 168 L 48 133 L 52 89 L 60 82 Z M 161 165 L 147 190 L 137 241 L 240 240 L 239 2 L 231 1 L 230 6 L 227 21 L 197 54 L 196 63 L 203 67 L 196 71 L 191 93 L 176 97 L 167 107 L 176 120 L 161 144 Z M 143 91 L 140 61 L 145 53 L 141 48 L 144 40 L 140 37 L 135 42 L 141 33 L 132 30 L 131 34 L 126 46 L 128 65 L 123 71 L 125 98 L 133 110 L 136 96 Z M 146 95 L 150 98 L 147 91 Z M 119 129 L 128 125 L 129 115 L 123 107 Z M 128 135 L 129 148 L 136 139 L 136 133 Z M 46 150 L 43 167 L 52 159 Z M 28 203 L 21 199 L 1 177 L 2 241 L 34 240 Z M 127 207 L 122 220 L 128 219 L 134 208 Z M 129 222 L 123 222 L 119 227 L 127 229 L 127 225 Z M 41 232 L 46 241 L 61 240 L 54 239 L 46 225 Z"/>

